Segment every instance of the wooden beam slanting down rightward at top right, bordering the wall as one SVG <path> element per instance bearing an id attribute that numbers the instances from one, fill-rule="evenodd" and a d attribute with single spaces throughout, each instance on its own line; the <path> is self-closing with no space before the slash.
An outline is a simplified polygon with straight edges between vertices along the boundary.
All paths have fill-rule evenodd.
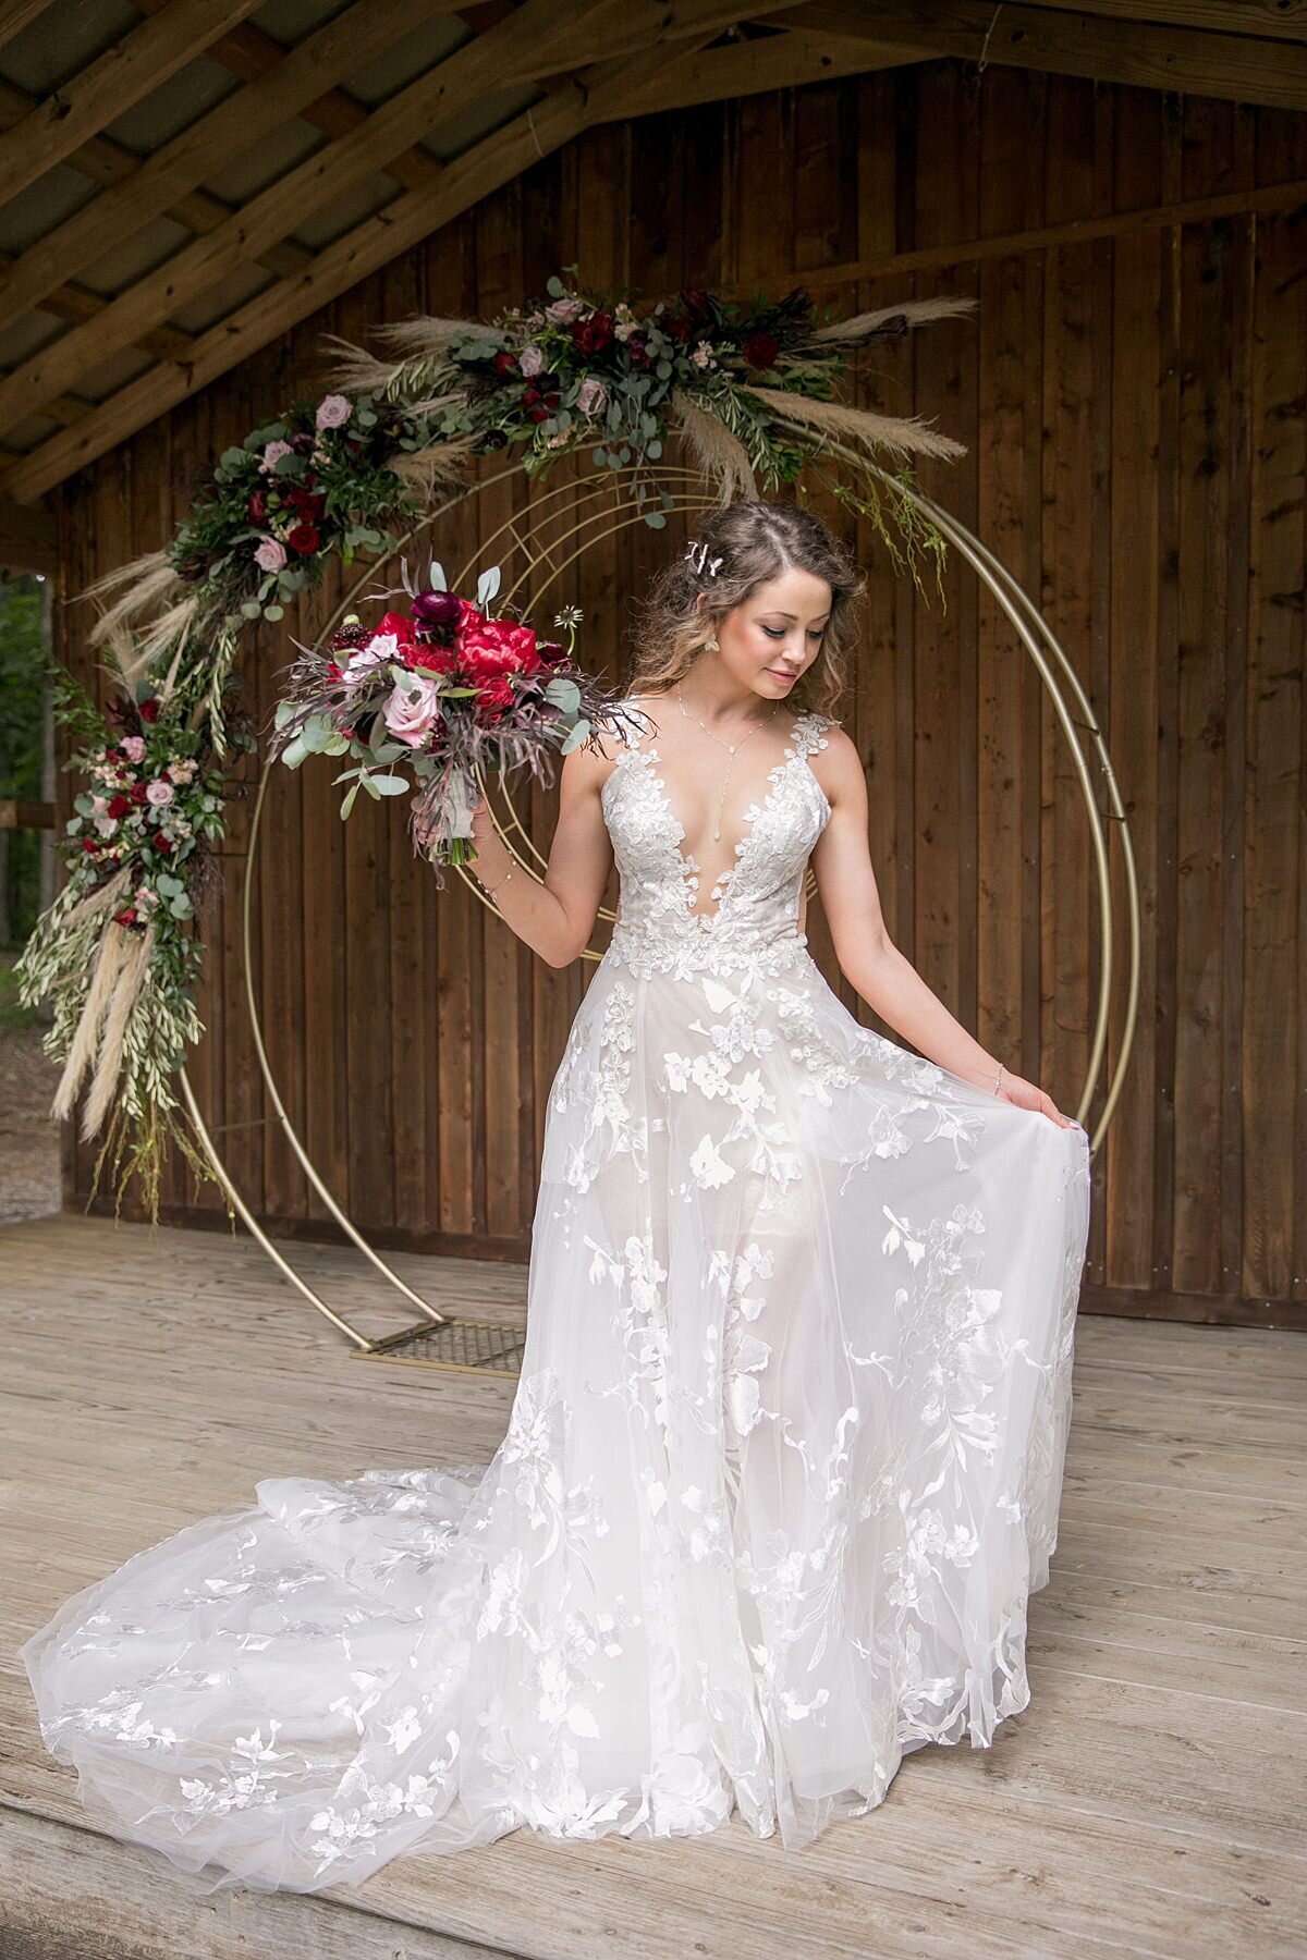
<path id="1" fill-rule="evenodd" d="M 1307 104 L 1307 47 L 1201 29 L 1117 22 L 1048 6 L 993 8 L 990 0 L 807 0 L 772 25 L 803 33 L 847 35 L 876 47 L 925 47 L 931 59 L 952 55 L 1048 74 L 1078 74 L 1131 88 L 1168 88 L 1221 102 L 1260 102 L 1301 110 Z"/>

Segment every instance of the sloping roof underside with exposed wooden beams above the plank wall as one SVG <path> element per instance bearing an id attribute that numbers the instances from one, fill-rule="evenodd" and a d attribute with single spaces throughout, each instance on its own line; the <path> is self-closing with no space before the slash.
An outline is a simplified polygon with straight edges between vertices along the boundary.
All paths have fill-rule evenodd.
<path id="1" fill-rule="evenodd" d="M 745 6 L 0 0 L 0 496 L 41 498 L 594 123 L 982 51 L 1307 106 L 1307 0 Z"/>

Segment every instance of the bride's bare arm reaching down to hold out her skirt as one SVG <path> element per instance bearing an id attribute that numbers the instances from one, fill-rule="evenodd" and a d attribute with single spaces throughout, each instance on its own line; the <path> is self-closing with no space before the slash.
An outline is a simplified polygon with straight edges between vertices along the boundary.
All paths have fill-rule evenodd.
<path id="1" fill-rule="evenodd" d="M 819 766 L 819 782 L 831 804 L 831 817 L 813 851 L 813 872 L 841 972 L 868 1007 L 927 1060 L 976 1088 L 992 1090 L 999 1060 L 944 1007 L 886 931 L 868 849 L 866 776 L 862 759 L 843 729 L 829 731 L 827 747 L 813 766 Z M 997 1094 L 1070 1127 L 1044 1090 L 1011 1074 L 1007 1066 Z"/>

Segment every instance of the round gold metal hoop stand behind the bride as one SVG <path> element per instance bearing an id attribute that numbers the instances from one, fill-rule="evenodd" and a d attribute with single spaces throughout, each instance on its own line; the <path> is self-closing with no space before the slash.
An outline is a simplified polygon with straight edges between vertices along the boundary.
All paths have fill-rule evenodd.
<path id="1" fill-rule="evenodd" d="M 1107 1082 L 1103 1107 L 1099 1109 L 1095 1129 L 1089 1137 L 1089 1149 L 1095 1151 L 1103 1131 L 1107 1129 L 1107 1123 L 1111 1121 L 1113 1109 L 1121 1094 L 1121 1084 L 1129 1062 L 1129 1053 L 1135 1033 L 1135 1021 L 1138 1013 L 1138 978 L 1140 978 L 1140 917 L 1138 917 L 1138 886 L 1135 874 L 1135 855 L 1131 847 L 1131 833 L 1129 833 L 1125 806 L 1119 794 L 1111 759 L 1107 755 L 1103 731 L 1080 684 L 1080 676 L 1076 674 L 1064 649 L 1058 645 L 1048 623 L 1042 619 L 1031 598 L 1023 592 L 1023 588 L 1017 584 L 1011 572 L 1001 564 L 1001 561 L 992 551 L 988 551 L 988 547 L 982 545 L 982 541 L 974 537 L 966 529 L 966 525 L 962 525 L 948 512 L 941 510 L 941 506 L 935 504 L 923 492 L 905 486 L 899 478 L 892 478 L 886 470 L 878 468 L 876 465 L 868 465 L 866 457 L 852 457 L 850 453 L 843 451 L 839 443 L 829 445 L 829 449 L 833 455 L 845 455 L 847 461 L 856 463 L 862 468 L 872 468 L 872 472 L 880 476 L 882 482 L 890 490 L 894 490 L 894 494 L 907 494 L 911 502 L 917 506 L 917 510 L 937 525 L 946 543 L 956 547 L 958 555 L 974 568 L 976 576 L 982 580 L 982 584 L 986 584 L 986 588 L 992 592 L 993 600 L 1009 619 L 1027 657 L 1031 659 L 1041 676 L 1041 682 L 1048 694 L 1048 702 L 1056 715 L 1056 721 L 1068 739 L 1068 747 L 1076 766 L 1076 780 L 1080 784 L 1086 815 L 1089 821 L 1089 841 L 1093 851 L 1093 872 L 1097 890 L 1099 943 L 1101 943 L 1099 998 L 1097 998 L 1093 1041 L 1091 1041 L 1089 1060 L 1086 1066 L 1086 1078 L 1076 1105 L 1076 1117 L 1082 1123 L 1088 1117 L 1089 1102 L 1093 1096 L 1093 1084 L 1097 1082 L 1097 1076 L 1101 1072 L 1103 1054 L 1107 1049 L 1107 1031 L 1111 1015 L 1113 978 L 1115 978 L 1113 878 L 1111 878 L 1113 857 L 1109 851 L 1111 833 L 1107 825 L 1117 827 L 1117 839 L 1121 845 L 1119 862 L 1125 880 L 1123 904 L 1125 904 L 1125 919 L 1129 933 L 1127 974 L 1125 974 L 1127 998 L 1125 998 L 1121 1043 L 1117 1049 L 1111 1078 Z M 645 517 L 641 510 L 633 510 L 629 500 L 625 500 L 625 508 L 621 508 L 615 500 L 617 488 L 629 474 L 631 474 L 629 468 L 604 470 L 596 472 L 596 476 L 592 478 L 584 478 L 582 482 L 560 484 L 553 492 L 537 494 L 531 502 L 529 529 L 525 527 L 525 519 L 521 515 L 506 517 L 504 523 L 490 537 L 486 537 L 474 553 L 474 559 L 484 559 L 486 563 L 500 563 L 500 559 L 506 553 L 521 555 L 523 568 L 513 578 L 511 586 L 500 594 L 500 604 L 509 604 L 509 606 L 515 604 L 519 590 L 523 586 L 529 586 L 529 594 L 521 602 L 519 610 L 527 617 L 537 615 L 545 600 L 545 594 L 549 594 L 551 588 L 555 588 L 558 580 L 562 580 L 568 574 L 568 570 L 572 568 L 576 559 L 584 555 L 584 551 L 588 551 L 596 543 L 611 539 L 615 533 L 627 529 L 629 525 L 643 523 Z M 445 512 L 449 512 L 455 504 L 466 500 L 468 496 L 476 496 L 478 492 L 488 490 L 490 486 L 500 484 L 508 478 L 521 478 L 521 466 L 513 465 L 506 470 L 482 478 L 476 484 L 453 492 L 443 504 L 427 512 L 410 529 L 410 533 L 400 543 L 400 551 L 411 545 L 423 531 L 429 531 L 431 525 L 437 523 L 439 517 L 445 515 Z M 698 512 L 698 510 L 717 508 L 719 502 L 717 496 L 711 492 L 711 488 L 705 484 L 703 476 L 698 470 L 660 466 L 658 484 L 668 490 L 668 494 L 674 500 L 674 510 L 678 512 Z M 562 523 L 555 535 L 551 531 L 551 523 L 557 521 L 558 517 L 562 517 Z M 376 578 L 376 570 L 378 570 L 376 566 L 368 566 L 355 580 L 355 584 L 349 588 L 349 592 L 345 594 L 345 598 L 339 602 L 333 615 L 325 623 L 323 637 L 339 623 L 339 619 L 353 606 L 353 602 L 359 598 L 364 586 Z M 453 590 L 460 590 L 466 584 L 466 578 L 470 576 L 472 570 L 474 570 L 474 561 L 468 561 L 468 564 L 462 566 L 451 578 Z M 1093 782 L 1095 768 L 1105 784 L 1105 802 L 1107 802 L 1105 811 L 1099 809 L 1095 796 L 1095 782 Z M 259 1013 L 259 1002 L 255 998 L 253 958 L 251 958 L 253 892 L 259 868 L 259 845 L 263 835 L 263 808 L 270 772 L 272 772 L 272 762 L 265 759 L 251 815 L 249 851 L 247 851 L 245 880 L 243 880 L 243 906 L 241 906 L 245 1004 L 249 1011 L 251 1033 L 255 1039 L 255 1054 L 259 1058 L 259 1070 L 265 1080 L 274 1119 L 280 1125 L 286 1141 L 290 1143 L 308 1182 L 325 1203 L 329 1215 L 341 1227 L 345 1237 L 351 1239 L 353 1245 L 374 1266 L 374 1270 L 382 1278 L 386 1278 L 390 1286 L 394 1286 L 396 1292 L 404 1296 L 404 1299 L 408 1299 L 413 1307 L 419 1309 L 423 1319 L 417 1325 L 406 1327 L 396 1335 L 388 1335 L 384 1339 L 368 1339 L 345 1315 L 337 1313 L 325 1299 L 321 1299 L 315 1288 L 310 1286 L 310 1282 L 290 1264 L 290 1260 L 280 1252 L 280 1249 L 272 1245 L 268 1235 L 263 1231 L 259 1219 L 245 1203 L 241 1192 L 235 1186 L 235 1180 L 231 1178 L 221 1160 L 221 1154 L 218 1151 L 218 1145 L 210 1129 L 204 1123 L 186 1070 L 180 1070 L 182 1100 L 196 1127 L 200 1145 L 206 1151 L 206 1156 L 210 1158 L 214 1172 L 233 1211 L 241 1217 L 249 1233 L 257 1239 L 257 1243 L 268 1254 L 272 1264 L 282 1272 L 282 1276 L 310 1301 L 310 1305 L 314 1305 L 321 1315 L 325 1315 L 325 1319 L 329 1319 L 331 1325 L 337 1327 L 353 1343 L 353 1350 L 357 1356 L 370 1360 L 408 1362 L 427 1368 L 455 1368 L 476 1374 L 515 1376 L 519 1372 L 519 1358 L 525 1343 L 523 1327 L 498 1325 L 498 1323 L 492 1325 L 486 1321 L 466 1321 L 455 1313 L 437 1309 L 417 1292 L 413 1292 L 413 1288 L 408 1286 L 408 1282 L 398 1272 L 394 1272 L 394 1268 L 380 1256 L 380 1252 L 368 1243 L 363 1231 L 337 1203 L 325 1180 L 312 1162 L 294 1123 L 290 1121 L 263 1039 L 263 1021 Z M 502 819 L 500 813 L 492 808 L 492 819 L 496 823 L 496 829 L 506 849 L 513 857 L 515 864 L 523 870 L 523 874 L 541 880 L 547 858 L 527 835 L 527 829 L 521 823 L 511 804 L 511 796 L 508 794 L 506 794 L 506 804 L 508 804 L 508 819 Z M 498 906 L 494 904 L 494 900 L 486 892 L 482 892 L 480 884 L 466 870 L 462 870 L 462 878 L 476 892 L 476 898 L 486 906 L 486 909 L 498 913 Z M 815 890 L 815 878 L 809 866 L 805 878 L 805 892 L 811 894 L 813 890 Z M 600 917 L 611 923 L 615 913 L 609 907 L 600 907 Z M 596 953 L 594 949 L 588 947 L 582 956 L 588 960 L 598 960 L 602 958 L 602 953 Z"/>

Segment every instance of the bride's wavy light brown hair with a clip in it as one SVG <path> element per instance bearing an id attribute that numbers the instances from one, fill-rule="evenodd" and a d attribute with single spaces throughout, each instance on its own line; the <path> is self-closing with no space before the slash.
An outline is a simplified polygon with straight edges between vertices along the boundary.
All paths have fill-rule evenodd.
<path id="1" fill-rule="evenodd" d="M 856 559 L 813 512 L 754 498 L 709 512 L 698 521 L 694 543 L 694 553 L 668 561 L 654 574 L 639 604 L 627 692 L 662 694 L 676 686 L 715 637 L 725 613 L 794 568 L 825 578 L 831 617 L 821 633 L 821 653 L 786 704 L 835 711 L 866 592 L 866 572 Z M 713 561 L 719 561 L 715 572 Z M 703 606 L 698 604 L 700 594 Z"/>

